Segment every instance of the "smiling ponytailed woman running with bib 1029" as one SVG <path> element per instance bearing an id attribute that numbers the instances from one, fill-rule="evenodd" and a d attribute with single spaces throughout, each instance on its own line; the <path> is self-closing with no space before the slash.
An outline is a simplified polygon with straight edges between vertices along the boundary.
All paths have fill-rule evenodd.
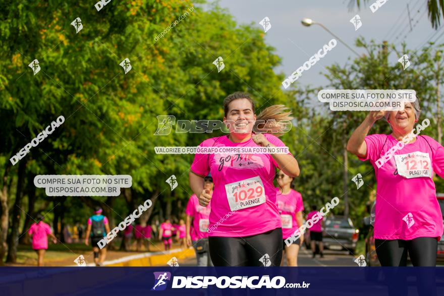
<path id="1" fill-rule="evenodd" d="M 284 133 L 284 126 L 291 123 L 290 112 L 284 110 L 283 105 L 274 105 L 256 117 L 250 95 L 233 93 L 224 100 L 224 122 L 230 134 L 210 138 L 199 146 L 244 149 L 285 146 L 272 135 Z M 282 225 L 273 185 L 277 167 L 289 176 L 299 175 L 298 162 L 291 153 L 222 151 L 195 155 L 190 186 L 201 206 L 207 206 L 211 200 L 208 242 L 214 266 L 281 265 Z M 208 172 L 214 182 L 212 196 L 204 189 Z"/>

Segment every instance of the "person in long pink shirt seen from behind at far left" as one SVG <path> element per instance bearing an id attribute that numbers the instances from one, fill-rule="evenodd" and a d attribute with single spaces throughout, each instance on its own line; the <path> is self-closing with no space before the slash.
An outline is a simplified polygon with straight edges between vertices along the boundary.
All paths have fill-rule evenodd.
<path id="1" fill-rule="evenodd" d="M 57 239 L 51 232 L 51 227 L 43 222 L 43 216 L 37 215 L 38 222 L 32 223 L 28 234 L 32 236 L 32 249 L 37 253 L 37 266 L 43 266 L 43 258 L 45 251 L 48 249 L 48 235 L 51 236 L 52 242 L 57 243 Z"/>

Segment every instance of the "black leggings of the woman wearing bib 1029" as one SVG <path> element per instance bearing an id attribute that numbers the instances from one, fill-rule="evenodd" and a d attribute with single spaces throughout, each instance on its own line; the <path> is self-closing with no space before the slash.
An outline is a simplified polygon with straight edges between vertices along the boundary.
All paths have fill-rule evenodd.
<path id="1" fill-rule="evenodd" d="M 259 259 L 265 254 L 269 266 L 281 266 L 282 228 L 240 238 L 209 236 L 208 242 L 214 266 L 264 266 Z"/>

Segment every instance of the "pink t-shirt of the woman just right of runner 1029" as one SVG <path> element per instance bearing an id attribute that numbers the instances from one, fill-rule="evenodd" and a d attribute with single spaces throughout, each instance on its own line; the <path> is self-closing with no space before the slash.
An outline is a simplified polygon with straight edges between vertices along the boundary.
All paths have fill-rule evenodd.
<path id="1" fill-rule="evenodd" d="M 282 236 L 287 239 L 299 228 L 296 213 L 304 210 L 302 195 L 293 189 L 288 194 L 282 194 L 280 188 L 276 188 L 276 203 L 281 213 Z"/>

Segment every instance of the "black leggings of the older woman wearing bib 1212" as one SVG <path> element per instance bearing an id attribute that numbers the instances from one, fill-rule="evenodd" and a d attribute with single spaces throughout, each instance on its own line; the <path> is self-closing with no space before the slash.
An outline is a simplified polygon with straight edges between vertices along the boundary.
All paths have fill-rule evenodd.
<path id="1" fill-rule="evenodd" d="M 404 240 L 375 239 L 376 254 L 381 266 L 406 266 L 407 252 L 413 266 L 436 266 L 436 238 Z"/>

